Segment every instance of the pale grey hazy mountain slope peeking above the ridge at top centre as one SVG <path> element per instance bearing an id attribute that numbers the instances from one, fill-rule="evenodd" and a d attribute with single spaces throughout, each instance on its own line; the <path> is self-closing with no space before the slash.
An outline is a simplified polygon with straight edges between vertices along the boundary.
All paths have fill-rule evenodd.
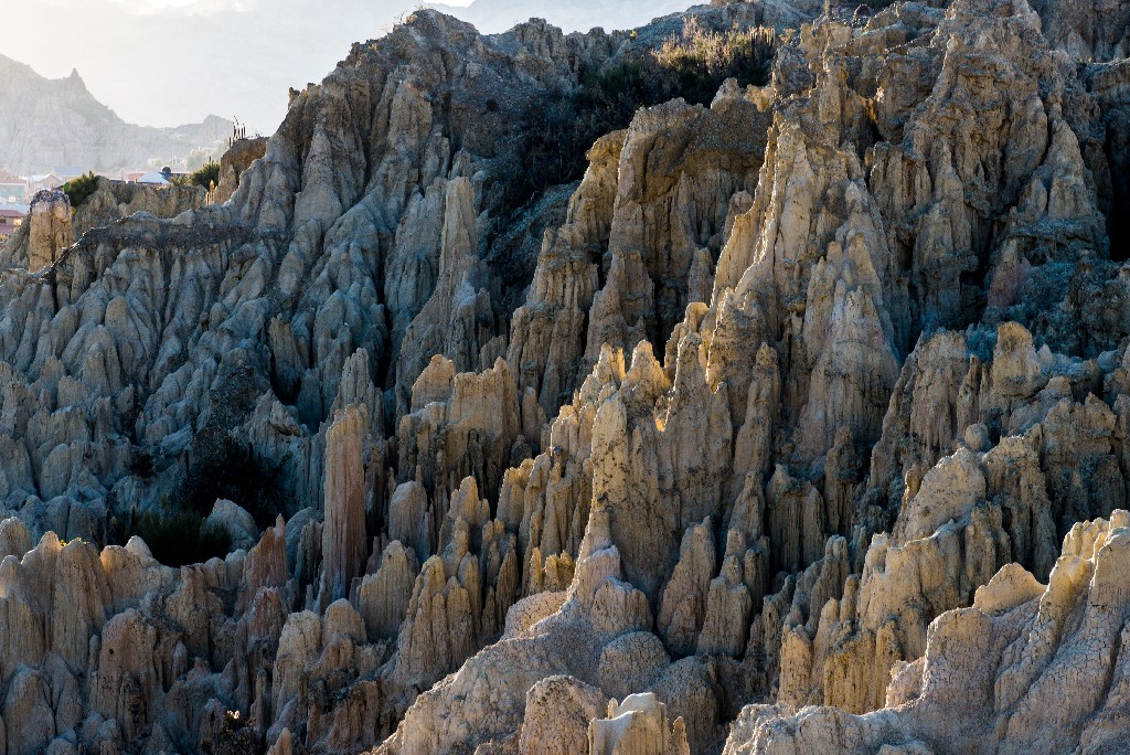
<path id="1" fill-rule="evenodd" d="M 545 18 L 566 32 L 606 31 L 642 26 L 653 18 L 680 12 L 694 0 L 614 2 L 610 0 L 475 0 L 466 8 L 428 3 L 431 8 L 475 24 L 488 34 L 505 32 L 530 18 Z"/>

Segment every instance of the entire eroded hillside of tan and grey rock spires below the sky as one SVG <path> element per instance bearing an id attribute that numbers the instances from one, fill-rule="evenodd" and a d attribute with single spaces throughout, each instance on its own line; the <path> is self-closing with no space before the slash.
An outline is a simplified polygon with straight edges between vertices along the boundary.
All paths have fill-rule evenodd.
<path id="1" fill-rule="evenodd" d="M 1130 89 L 1086 10 L 419 11 L 221 192 L 41 198 L 6 752 L 1130 746 Z M 538 184 L 547 109 L 711 40 L 764 80 Z"/>

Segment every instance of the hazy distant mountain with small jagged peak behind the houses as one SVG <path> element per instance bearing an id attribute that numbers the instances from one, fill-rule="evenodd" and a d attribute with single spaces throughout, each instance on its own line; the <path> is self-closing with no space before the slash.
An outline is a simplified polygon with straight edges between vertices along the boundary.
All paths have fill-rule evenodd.
<path id="1" fill-rule="evenodd" d="M 232 122 L 216 115 L 176 128 L 132 125 L 98 102 L 78 71 L 47 79 L 0 55 L 0 166 L 16 173 L 139 167 L 215 148 L 231 134 Z"/>

